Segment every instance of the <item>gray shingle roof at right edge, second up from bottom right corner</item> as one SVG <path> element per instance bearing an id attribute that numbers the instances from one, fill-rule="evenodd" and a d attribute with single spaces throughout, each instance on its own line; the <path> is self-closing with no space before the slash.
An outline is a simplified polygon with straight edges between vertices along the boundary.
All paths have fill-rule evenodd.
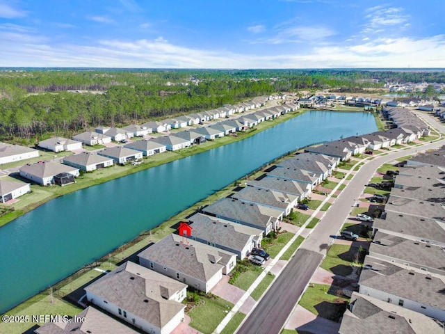
<path id="1" fill-rule="evenodd" d="M 423 305 L 445 309 L 445 283 L 442 279 L 424 273 L 403 269 L 395 264 L 369 255 L 364 261 L 359 285 L 371 287 L 401 299 L 410 299 Z M 372 269 L 366 269 L 372 267 Z M 444 276 L 442 276 L 444 278 Z M 445 278 L 444 278 L 445 279 Z"/>

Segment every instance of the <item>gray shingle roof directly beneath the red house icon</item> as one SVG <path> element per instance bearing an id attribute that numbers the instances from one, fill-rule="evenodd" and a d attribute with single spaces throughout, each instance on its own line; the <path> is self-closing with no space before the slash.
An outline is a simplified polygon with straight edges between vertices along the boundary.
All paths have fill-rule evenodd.
<path id="1" fill-rule="evenodd" d="M 232 256 L 236 256 L 194 240 L 183 244 L 182 239 L 177 234 L 170 234 L 140 252 L 138 257 L 207 282 L 229 263 Z"/>

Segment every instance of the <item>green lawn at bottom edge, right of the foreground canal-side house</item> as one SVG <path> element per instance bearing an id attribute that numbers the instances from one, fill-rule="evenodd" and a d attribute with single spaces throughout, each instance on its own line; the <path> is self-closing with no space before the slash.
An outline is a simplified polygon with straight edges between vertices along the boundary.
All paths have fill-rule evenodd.
<path id="1" fill-rule="evenodd" d="M 225 318 L 234 304 L 216 296 L 214 299 L 203 298 L 204 303 L 193 308 L 188 315 L 191 317 L 190 326 L 203 334 L 211 334 Z"/>

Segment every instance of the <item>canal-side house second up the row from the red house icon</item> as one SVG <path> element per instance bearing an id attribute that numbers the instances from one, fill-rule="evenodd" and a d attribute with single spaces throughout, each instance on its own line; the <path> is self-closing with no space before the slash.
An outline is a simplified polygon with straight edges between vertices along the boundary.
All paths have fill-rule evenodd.
<path id="1" fill-rule="evenodd" d="M 234 200 L 233 198 L 221 198 L 204 207 L 201 212 L 252 228 L 259 228 L 264 231 L 265 235 L 277 230 L 284 214 L 283 210 Z"/>

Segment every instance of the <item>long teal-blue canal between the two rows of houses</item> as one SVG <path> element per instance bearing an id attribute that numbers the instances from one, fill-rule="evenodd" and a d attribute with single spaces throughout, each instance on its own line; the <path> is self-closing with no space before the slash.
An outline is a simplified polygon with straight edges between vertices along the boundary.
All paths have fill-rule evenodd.
<path id="1" fill-rule="evenodd" d="M 0 313 L 286 152 L 377 131 L 309 111 L 229 145 L 51 200 L 0 228 Z"/>

